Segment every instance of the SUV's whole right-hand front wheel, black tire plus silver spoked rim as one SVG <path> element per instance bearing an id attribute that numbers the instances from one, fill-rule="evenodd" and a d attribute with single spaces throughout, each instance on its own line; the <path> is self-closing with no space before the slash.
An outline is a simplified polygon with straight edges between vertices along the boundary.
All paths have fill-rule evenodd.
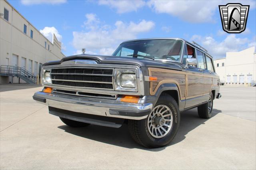
<path id="1" fill-rule="evenodd" d="M 128 121 L 132 138 L 147 148 L 158 148 L 170 143 L 179 125 L 178 104 L 172 96 L 167 94 L 159 97 L 148 118 Z"/>

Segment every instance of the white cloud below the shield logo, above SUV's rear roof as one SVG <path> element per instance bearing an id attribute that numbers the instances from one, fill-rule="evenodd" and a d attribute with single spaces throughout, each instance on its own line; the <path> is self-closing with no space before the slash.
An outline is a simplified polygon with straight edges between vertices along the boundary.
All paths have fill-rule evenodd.
<path id="1" fill-rule="evenodd" d="M 221 58 L 226 56 L 226 52 L 241 51 L 248 48 L 248 44 L 252 43 L 252 40 L 248 38 L 236 38 L 235 34 L 229 34 L 221 42 L 216 41 L 211 36 L 198 36 L 194 35 L 191 41 L 195 41 L 202 45 L 202 47 L 208 50 L 208 53 L 214 58 Z M 253 43 L 252 43 L 253 44 Z"/>

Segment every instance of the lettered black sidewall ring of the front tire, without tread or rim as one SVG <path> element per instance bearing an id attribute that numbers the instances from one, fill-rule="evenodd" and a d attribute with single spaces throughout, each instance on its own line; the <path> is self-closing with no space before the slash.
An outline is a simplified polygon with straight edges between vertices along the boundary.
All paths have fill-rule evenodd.
<path id="1" fill-rule="evenodd" d="M 180 125 L 180 112 L 179 112 L 176 101 L 173 98 L 170 99 L 169 97 L 167 98 L 166 96 L 163 96 L 163 97 L 161 96 L 158 99 L 158 102 L 156 103 L 156 105 L 154 106 L 156 107 L 158 105 L 166 105 L 172 111 L 171 113 L 173 117 L 172 127 L 168 132 L 168 134 L 166 134 L 166 136 L 162 138 L 155 138 L 150 134 L 148 130 L 148 117 L 140 121 L 141 138 L 144 141 L 144 144 L 147 146 L 154 146 L 154 147 L 164 146 L 168 144 L 172 140 L 172 138 L 174 138 L 174 136 L 176 135 L 176 132 Z"/>

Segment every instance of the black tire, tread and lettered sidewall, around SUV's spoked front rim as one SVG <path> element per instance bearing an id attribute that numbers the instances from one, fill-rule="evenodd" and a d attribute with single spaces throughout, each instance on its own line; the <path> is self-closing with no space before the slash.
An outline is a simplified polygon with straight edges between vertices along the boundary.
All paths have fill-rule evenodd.
<path id="1" fill-rule="evenodd" d="M 139 121 L 129 120 L 128 128 L 132 138 L 140 145 L 147 148 L 158 148 L 167 145 L 172 141 L 174 136 L 176 135 L 178 128 L 180 126 L 180 111 L 177 102 L 174 98 L 168 94 L 164 94 L 159 97 L 156 105 L 165 105 L 167 106 L 172 114 L 172 126 L 170 127 L 170 131 L 166 132 L 166 135 L 162 138 L 156 138 L 152 136 L 148 129 L 148 119 L 142 119 Z M 153 109 L 152 109 L 153 111 Z M 151 112 L 152 113 L 152 112 Z M 151 115 L 149 113 L 149 116 Z M 148 116 L 148 117 L 149 117 Z"/>

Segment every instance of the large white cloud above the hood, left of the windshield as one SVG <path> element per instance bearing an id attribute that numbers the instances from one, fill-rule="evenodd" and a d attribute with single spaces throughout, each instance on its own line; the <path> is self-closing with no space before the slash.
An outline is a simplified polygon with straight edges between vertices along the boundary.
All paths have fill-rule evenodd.
<path id="1" fill-rule="evenodd" d="M 94 15 L 94 18 L 96 18 L 96 15 Z M 89 30 L 73 32 L 72 44 L 79 51 L 86 48 L 89 51 L 97 51 L 102 55 L 111 55 L 121 42 L 136 39 L 138 34 L 152 30 L 155 25 L 152 21 L 141 20 L 138 23 L 116 21 L 114 26 L 100 26 L 100 22 L 95 24 L 95 22 L 89 22 L 89 20 L 90 18 L 87 18 L 85 21 L 85 23 L 91 23 L 87 24 Z"/>

